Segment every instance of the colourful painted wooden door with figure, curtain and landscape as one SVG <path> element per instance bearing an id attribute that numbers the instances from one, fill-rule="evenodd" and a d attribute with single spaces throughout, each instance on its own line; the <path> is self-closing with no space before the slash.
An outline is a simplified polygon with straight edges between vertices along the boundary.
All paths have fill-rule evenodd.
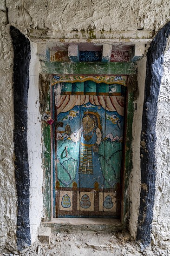
<path id="1" fill-rule="evenodd" d="M 120 216 L 124 84 L 54 84 L 53 217 Z"/>

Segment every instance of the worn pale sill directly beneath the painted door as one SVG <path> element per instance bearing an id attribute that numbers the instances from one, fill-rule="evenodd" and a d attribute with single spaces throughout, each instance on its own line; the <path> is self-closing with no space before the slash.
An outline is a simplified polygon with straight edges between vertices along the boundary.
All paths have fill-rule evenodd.
<path id="1" fill-rule="evenodd" d="M 113 232 L 124 229 L 118 219 L 101 218 L 55 218 L 51 222 L 41 222 L 41 229 L 51 229 L 53 234 L 57 233 L 84 233 L 84 232 Z"/>

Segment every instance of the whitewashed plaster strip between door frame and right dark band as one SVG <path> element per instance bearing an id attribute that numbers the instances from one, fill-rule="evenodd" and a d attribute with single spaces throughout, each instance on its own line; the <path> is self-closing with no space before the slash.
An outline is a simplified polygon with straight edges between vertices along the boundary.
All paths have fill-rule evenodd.
<path id="1" fill-rule="evenodd" d="M 141 172 L 140 172 L 140 136 L 144 105 L 144 85 L 146 77 L 146 56 L 137 62 L 138 95 L 134 102 L 134 118 L 132 126 L 133 169 L 130 176 L 129 193 L 131 198 L 129 229 L 135 238 L 137 233 L 138 211 L 140 205 Z"/>

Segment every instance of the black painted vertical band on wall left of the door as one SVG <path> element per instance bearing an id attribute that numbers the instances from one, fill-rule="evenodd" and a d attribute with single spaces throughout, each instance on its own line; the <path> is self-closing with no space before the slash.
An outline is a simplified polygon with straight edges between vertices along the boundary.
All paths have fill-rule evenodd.
<path id="1" fill-rule="evenodd" d="M 19 250 L 31 244 L 29 220 L 30 177 L 27 148 L 27 101 L 29 88 L 30 42 L 15 27 L 10 27 L 13 41 L 13 104 L 15 178 L 18 197 L 17 246 Z"/>

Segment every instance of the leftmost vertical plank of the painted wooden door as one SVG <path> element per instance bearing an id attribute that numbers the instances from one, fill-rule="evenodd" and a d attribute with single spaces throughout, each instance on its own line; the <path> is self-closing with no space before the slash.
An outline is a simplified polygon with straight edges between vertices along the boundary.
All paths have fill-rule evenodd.
<path id="1" fill-rule="evenodd" d="M 68 86 L 67 83 L 66 86 Z M 63 122 L 63 128 L 58 128 L 57 130 L 56 173 L 57 180 L 60 182 L 57 215 L 72 216 L 75 212 L 77 214 L 77 190 L 74 182 L 78 165 L 79 134 L 74 137 L 73 133 L 76 133 L 79 129 L 80 96 L 62 95 L 60 94 L 62 88 L 59 87 L 61 87 L 60 84 L 56 90 L 57 121 Z M 70 87 L 70 92 L 72 93 L 72 87 Z M 60 109 L 60 111 L 61 103 L 65 105 L 65 108 Z"/>

